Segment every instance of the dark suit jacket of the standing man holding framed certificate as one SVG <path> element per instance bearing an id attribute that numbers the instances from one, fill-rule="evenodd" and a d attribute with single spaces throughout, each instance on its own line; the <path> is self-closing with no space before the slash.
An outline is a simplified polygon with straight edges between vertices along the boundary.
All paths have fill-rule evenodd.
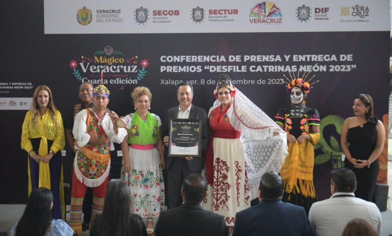
<path id="1" fill-rule="evenodd" d="M 177 119 L 178 106 L 170 108 L 166 111 L 165 122 L 162 124 L 162 137 L 169 136 L 170 119 Z M 190 171 L 200 172 L 204 168 L 204 152 L 208 144 L 210 127 L 208 125 L 208 117 L 205 109 L 192 104 L 189 111 L 189 119 L 202 119 L 202 158 L 193 158 L 187 161 Z M 177 157 L 176 157 L 177 158 Z M 165 166 L 169 168 L 172 158 L 167 156 L 167 148 L 165 147 Z"/>

